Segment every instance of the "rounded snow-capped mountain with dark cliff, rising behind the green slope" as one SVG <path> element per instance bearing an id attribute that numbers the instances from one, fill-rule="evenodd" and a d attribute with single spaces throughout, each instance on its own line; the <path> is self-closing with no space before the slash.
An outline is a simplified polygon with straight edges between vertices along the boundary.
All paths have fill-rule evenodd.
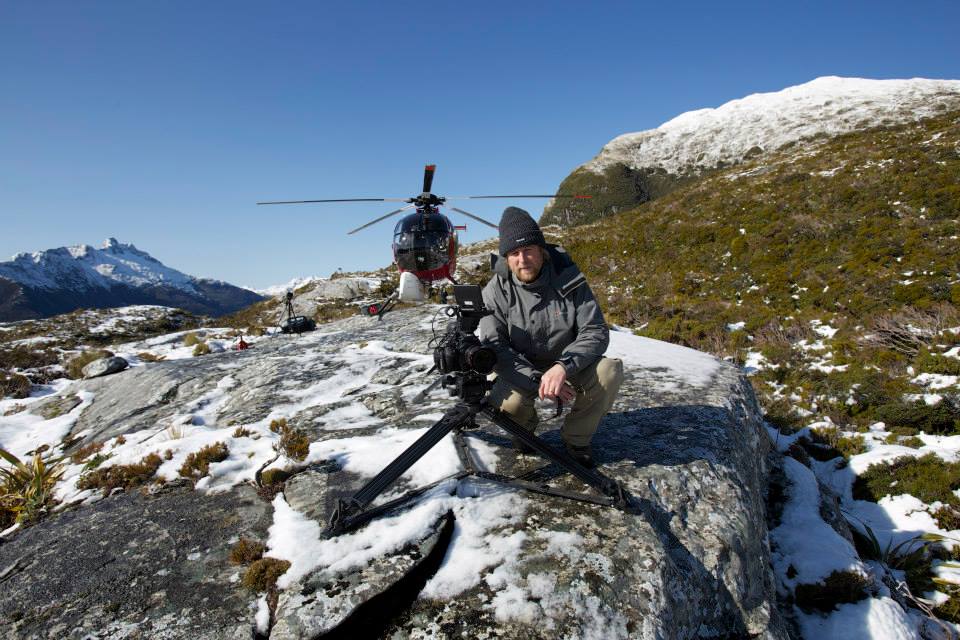
<path id="1" fill-rule="evenodd" d="M 798 150 L 812 151 L 838 135 L 956 109 L 960 109 L 957 80 L 824 77 L 716 109 L 690 111 L 656 129 L 608 142 L 558 189 L 593 198 L 551 201 L 540 222 L 589 222 L 666 195 L 711 171 L 780 149 L 799 145 Z"/>

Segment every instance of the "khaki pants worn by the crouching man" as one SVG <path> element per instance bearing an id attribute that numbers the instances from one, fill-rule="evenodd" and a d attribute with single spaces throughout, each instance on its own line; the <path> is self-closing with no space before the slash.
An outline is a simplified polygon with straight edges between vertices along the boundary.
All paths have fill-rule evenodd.
<path id="1" fill-rule="evenodd" d="M 600 419 L 613 406 L 613 401 L 623 382 L 623 362 L 616 358 L 600 358 L 568 378 L 570 383 L 583 389 L 577 392 L 573 409 L 563 420 L 560 435 L 563 441 L 575 447 L 590 444 L 597 431 Z M 490 404 L 530 431 L 536 431 L 540 420 L 534 407 L 537 391 L 525 391 L 497 378 L 490 391 Z"/>

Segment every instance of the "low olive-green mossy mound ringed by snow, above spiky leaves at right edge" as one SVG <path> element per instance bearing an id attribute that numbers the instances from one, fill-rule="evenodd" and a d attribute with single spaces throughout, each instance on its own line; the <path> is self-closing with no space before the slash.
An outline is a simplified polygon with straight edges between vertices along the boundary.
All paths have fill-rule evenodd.
<path id="1" fill-rule="evenodd" d="M 886 495 L 908 493 L 923 502 L 958 505 L 953 494 L 960 488 L 960 463 L 944 462 L 935 454 L 903 456 L 888 464 L 873 464 L 853 483 L 856 500 L 878 502 Z"/>

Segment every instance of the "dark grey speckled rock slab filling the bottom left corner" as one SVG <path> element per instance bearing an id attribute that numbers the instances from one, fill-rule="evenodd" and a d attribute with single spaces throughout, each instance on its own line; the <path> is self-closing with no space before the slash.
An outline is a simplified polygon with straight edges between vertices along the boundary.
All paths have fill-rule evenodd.
<path id="1" fill-rule="evenodd" d="M 134 492 L 59 514 L 0 545 L 0 566 L 25 560 L 0 590 L 0 637 L 253 638 L 257 598 L 228 555 L 269 524 L 249 487 Z"/>

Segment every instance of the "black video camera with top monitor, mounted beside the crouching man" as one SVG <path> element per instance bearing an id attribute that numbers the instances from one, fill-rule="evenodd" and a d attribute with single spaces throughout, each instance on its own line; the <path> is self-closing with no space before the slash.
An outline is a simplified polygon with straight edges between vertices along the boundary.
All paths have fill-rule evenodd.
<path id="1" fill-rule="evenodd" d="M 433 350 L 433 362 L 444 374 L 443 386 L 450 395 L 479 402 L 490 388 L 487 375 L 497 364 L 496 351 L 483 346 L 475 335 L 480 319 L 490 311 L 484 308 L 477 285 L 454 285 L 453 296 L 457 304 L 447 307 L 446 313 L 454 319 Z"/>

